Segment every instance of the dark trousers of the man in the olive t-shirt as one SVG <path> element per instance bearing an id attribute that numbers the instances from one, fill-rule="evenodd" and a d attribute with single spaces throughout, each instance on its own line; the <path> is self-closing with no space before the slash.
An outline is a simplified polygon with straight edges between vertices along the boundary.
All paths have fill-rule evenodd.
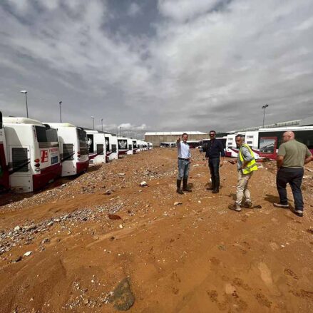
<path id="1" fill-rule="evenodd" d="M 296 210 L 303 210 L 303 197 L 301 184 L 303 178 L 303 168 L 279 168 L 276 176 L 276 186 L 279 193 L 280 203 L 287 205 L 287 184 L 289 183 L 294 195 L 294 207 Z"/>

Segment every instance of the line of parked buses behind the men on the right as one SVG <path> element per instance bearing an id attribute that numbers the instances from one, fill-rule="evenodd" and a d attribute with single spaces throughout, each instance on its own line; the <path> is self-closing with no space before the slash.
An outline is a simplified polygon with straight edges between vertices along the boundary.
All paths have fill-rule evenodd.
<path id="1" fill-rule="evenodd" d="M 294 132 L 296 140 L 307 145 L 307 148 L 313 153 L 313 126 L 290 126 L 279 128 L 260 128 L 259 130 L 230 133 L 219 139 L 225 149 L 227 157 L 237 158 L 238 148 L 235 142 L 236 135 L 245 136 L 245 143 L 250 145 L 255 153 L 256 159 L 273 159 L 277 157 L 279 145 L 282 143 L 282 134 L 291 130 Z M 202 140 L 202 148 L 205 150 L 205 145 L 210 139 Z"/>

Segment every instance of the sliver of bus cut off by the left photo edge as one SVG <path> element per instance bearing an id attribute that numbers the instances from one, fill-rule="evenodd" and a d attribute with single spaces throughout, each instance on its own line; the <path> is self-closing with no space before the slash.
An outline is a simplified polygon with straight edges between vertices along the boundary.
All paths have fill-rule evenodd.
<path id="1" fill-rule="evenodd" d="M 0 112 L 0 190 L 8 190 L 9 184 L 9 168 L 8 155 L 6 149 L 6 135 L 2 123 L 2 113 Z"/>

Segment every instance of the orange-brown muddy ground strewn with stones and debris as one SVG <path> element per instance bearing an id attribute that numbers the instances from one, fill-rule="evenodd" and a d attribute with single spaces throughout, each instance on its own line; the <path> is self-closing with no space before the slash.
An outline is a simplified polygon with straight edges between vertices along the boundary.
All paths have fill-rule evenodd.
<path id="1" fill-rule="evenodd" d="M 36 195 L 1 195 L 0 312 L 116 312 L 125 278 L 128 312 L 313 312 L 313 165 L 304 217 L 273 207 L 274 163 L 250 181 L 262 208 L 234 212 L 236 165 L 224 163 L 212 194 L 193 155 L 185 195 L 175 193 L 176 151 L 166 148 Z"/>

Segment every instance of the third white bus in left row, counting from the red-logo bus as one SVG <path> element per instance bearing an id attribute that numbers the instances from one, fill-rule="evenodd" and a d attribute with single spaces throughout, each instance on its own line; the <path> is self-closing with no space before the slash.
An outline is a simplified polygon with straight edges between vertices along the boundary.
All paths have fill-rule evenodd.
<path id="1" fill-rule="evenodd" d="M 89 163 L 101 165 L 106 163 L 106 138 L 97 130 L 87 130 Z"/>

